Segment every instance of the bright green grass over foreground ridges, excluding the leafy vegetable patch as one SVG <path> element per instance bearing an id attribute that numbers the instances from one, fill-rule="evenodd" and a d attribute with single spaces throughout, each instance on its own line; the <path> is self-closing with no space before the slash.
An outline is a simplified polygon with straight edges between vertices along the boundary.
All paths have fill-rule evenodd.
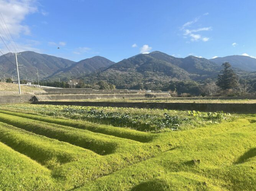
<path id="1" fill-rule="evenodd" d="M 13 105 L 13 110 L 18 108 L 19 105 Z M 10 105 L 8 109 L 11 110 Z M 36 107 L 33 109 L 25 110 L 20 105 L 23 112 L 36 112 Z M 56 111 L 57 108 L 52 110 Z M 15 151 L 0 143 L 1 153 L 11 153 L 0 155 L 0 189 L 19 189 L 20 182 L 14 180 L 15 177 L 18 180 L 24 177 L 20 188 L 23 190 L 255 189 L 256 115 L 237 115 L 233 121 L 202 123 L 203 127 L 198 125 L 194 129 L 158 134 L 116 128 L 120 129 L 119 133 L 124 129 L 127 136 L 136 135 L 136 132 L 150 138 L 153 136 L 148 142 L 138 142 L 125 139 L 125 135 L 123 138 L 112 136 L 111 131 L 104 129 L 115 128 L 112 126 L 1 112 L 0 141 L 22 154 L 15 155 Z M 91 125 L 90 128 L 86 127 L 87 124 Z M 74 128 L 73 125 L 80 126 Z M 102 132 L 91 132 L 94 125 L 98 125 Z M 80 133 L 83 136 L 79 136 Z M 91 151 L 77 145 L 85 138 L 97 141 L 98 146 L 114 144 L 115 149 L 109 154 L 99 155 L 90 143 L 84 147 Z M 47 151 L 49 154 L 42 157 Z M 18 161 L 23 160 L 26 162 L 20 165 Z M 24 169 L 30 163 L 31 166 Z M 10 172 L 9 165 L 17 173 Z M 40 170 L 35 172 L 34 168 Z M 29 180 L 31 172 L 35 172 L 37 178 Z"/>

